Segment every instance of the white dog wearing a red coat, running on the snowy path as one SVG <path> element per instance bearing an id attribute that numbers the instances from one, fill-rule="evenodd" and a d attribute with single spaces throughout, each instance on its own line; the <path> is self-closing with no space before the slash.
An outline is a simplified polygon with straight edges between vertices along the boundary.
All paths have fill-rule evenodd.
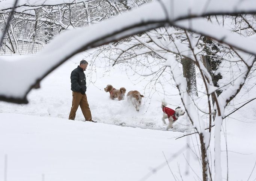
<path id="1" fill-rule="evenodd" d="M 166 105 L 167 104 L 165 102 L 162 102 L 161 107 L 163 109 L 163 118 L 162 118 L 162 120 L 163 120 L 164 124 L 166 124 L 165 119 L 168 118 L 168 120 L 169 120 L 169 124 L 166 128 L 166 131 L 168 131 L 168 129 L 173 128 L 172 125 L 179 118 L 179 116 L 182 116 L 182 115 L 185 114 L 185 111 L 182 110 L 181 107 L 177 107 L 175 110 L 172 110 L 171 108 L 166 107 Z"/>

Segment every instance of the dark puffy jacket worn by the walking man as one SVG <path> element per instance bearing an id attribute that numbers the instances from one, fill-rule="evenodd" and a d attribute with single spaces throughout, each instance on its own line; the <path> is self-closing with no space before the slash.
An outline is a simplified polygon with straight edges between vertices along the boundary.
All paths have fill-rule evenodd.
<path id="1" fill-rule="evenodd" d="M 79 65 L 71 72 L 70 79 L 72 91 L 80 92 L 80 89 L 86 91 L 86 77 L 83 69 L 81 69 Z"/>

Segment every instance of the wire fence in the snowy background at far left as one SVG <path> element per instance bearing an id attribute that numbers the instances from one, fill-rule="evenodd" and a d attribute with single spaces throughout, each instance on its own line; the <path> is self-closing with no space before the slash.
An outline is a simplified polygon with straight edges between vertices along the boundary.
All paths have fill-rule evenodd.
<path id="1" fill-rule="evenodd" d="M 43 42 L 17 41 L 16 44 L 3 41 L 0 56 L 31 55 L 40 52 L 45 46 Z"/>

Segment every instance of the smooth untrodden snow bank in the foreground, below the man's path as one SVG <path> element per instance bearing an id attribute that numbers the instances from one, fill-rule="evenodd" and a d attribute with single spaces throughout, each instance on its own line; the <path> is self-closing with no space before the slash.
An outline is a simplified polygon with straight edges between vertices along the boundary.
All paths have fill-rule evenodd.
<path id="1" fill-rule="evenodd" d="M 256 134 L 251 124 L 230 121 L 229 178 L 247 180 L 256 160 Z M 173 175 L 190 181 L 201 176 L 196 138 L 174 139 L 181 132 L 11 113 L 0 113 L 0 125 L 0 175 L 7 155 L 8 181 L 167 181 Z M 225 165 L 223 154 L 223 171 Z M 254 171 L 250 180 L 255 178 Z"/>

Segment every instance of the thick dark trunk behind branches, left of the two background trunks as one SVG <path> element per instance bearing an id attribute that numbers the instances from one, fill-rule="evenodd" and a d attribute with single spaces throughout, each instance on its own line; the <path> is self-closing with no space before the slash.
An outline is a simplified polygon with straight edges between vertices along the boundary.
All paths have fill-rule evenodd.
<path id="1" fill-rule="evenodd" d="M 190 60 L 183 58 L 181 59 L 183 67 L 183 76 L 187 78 L 187 92 L 188 94 L 198 96 L 197 86 L 196 86 L 196 67 L 195 64 Z"/>

